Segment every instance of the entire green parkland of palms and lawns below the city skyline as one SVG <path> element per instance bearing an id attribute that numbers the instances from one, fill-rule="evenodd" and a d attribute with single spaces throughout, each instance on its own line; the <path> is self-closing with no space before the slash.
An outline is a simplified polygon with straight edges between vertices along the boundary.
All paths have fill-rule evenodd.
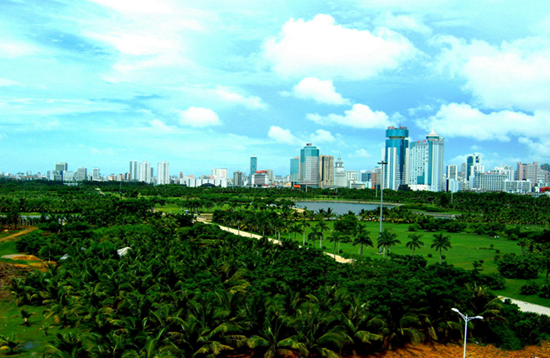
<path id="1" fill-rule="evenodd" d="M 550 306 L 547 196 L 386 190 L 380 232 L 330 208 L 369 189 L 0 184 L 0 355 L 367 357 L 461 345 L 452 308 L 470 342 L 550 334 L 499 299 Z"/>

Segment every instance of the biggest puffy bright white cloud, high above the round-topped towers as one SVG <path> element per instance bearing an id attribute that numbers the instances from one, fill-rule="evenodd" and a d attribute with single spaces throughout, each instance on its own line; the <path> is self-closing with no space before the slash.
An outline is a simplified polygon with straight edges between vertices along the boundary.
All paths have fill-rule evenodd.
<path id="1" fill-rule="evenodd" d="M 278 38 L 268 39 L 263 56 L 283 76 L 361 80 L 395 70 L 418 53 L 402 35 L 387 28 L 348 29 L 330 15 L 311 21 L 290 19 Z"/>

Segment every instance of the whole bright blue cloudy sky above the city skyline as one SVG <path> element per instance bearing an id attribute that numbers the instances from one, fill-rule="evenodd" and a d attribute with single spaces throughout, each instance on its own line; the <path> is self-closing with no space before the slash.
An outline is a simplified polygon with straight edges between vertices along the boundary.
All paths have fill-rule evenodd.
<path id="1" fill-rule="evenodd" d="M 550 161 L 550 2 L 0 0 L 0 170 L 346 169 L 385 128 L 446 164 Z"/>

